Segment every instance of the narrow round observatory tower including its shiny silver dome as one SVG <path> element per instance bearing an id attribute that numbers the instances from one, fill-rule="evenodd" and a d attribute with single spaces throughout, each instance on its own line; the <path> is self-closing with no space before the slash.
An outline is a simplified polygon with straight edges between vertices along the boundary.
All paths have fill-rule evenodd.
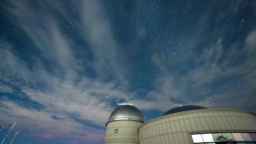
<path id="1" fill-rule="evenodd" d="M 138 128 L 145 118 L 133 104 L 123 103 L 109 116 L 104 144 L 139 144 Z"/>

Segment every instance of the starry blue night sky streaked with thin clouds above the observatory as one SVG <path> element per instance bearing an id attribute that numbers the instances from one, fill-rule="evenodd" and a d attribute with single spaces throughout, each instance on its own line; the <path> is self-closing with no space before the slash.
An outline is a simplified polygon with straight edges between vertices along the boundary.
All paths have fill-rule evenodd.
<path id="1" fill-rule="evenodd" d="M 1 0 L 0 141 L 102 144 L 117 103 L 256 113 L 254 0 Z"/>

